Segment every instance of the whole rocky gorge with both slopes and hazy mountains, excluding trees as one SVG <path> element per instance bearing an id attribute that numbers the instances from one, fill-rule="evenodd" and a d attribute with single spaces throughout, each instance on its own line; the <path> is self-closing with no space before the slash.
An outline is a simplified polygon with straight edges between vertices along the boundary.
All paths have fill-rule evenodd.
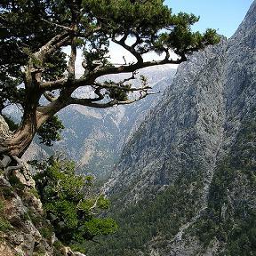
<path id="1" fill-rule="evenodd" d="M 114 110 L 64 109 L 63 140 L 28 149 L 26 159 L 68 148 L 79 173 L 100 178 L 95 190 L 111 201 L 102 216 L 119 229 L 83 243 L 86 256 L 256 255 L 255 46 L 256 1 L 234 36 L 188 55 L 177 72 L 142 69 L 163 93 Z M 0 133 L 6 125 L 0 116 Z M 0 255 L 84 255 L 45 234 L 28 170 L 15 170 L 16 187 L 2 171 Z"/>

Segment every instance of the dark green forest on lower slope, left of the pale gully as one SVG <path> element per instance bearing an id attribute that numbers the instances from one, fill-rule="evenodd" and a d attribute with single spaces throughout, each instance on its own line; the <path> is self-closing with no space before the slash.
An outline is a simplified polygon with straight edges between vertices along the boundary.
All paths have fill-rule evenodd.
<path id="1" fill-rule="evenodd" d="M 154 198 L 146 196 L 139 203 L 129 205 L 122 211 L 116 205 L 112 217 L 117 221 L 119 229 L 114 236 L 100 239 L 99 245 L 90 242 L 84 244 L 86 255 L 132 256 L 139 251 L 147 253 L 145 244 L 156 237 L 161 237 L 158 243 L 162 243 L 164 239 L 171 240 L 179 231 L 180 225 L 194 216 L 200 199 L 198 191 L 202 181 L 194 175 L 191 180 L 184 182 L 182 176 L 183 174 L 175 184 L 159 192 Z M 189 191 L 189 184 L 193 184 L 193 191 Z M 115 198 L 112 200 L 115 202 Z"/>

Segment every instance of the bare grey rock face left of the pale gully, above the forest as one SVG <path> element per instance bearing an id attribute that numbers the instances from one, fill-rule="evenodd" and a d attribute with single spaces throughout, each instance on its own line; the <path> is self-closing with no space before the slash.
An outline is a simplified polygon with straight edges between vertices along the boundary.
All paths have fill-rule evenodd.
<path id="1" fill-rule="evenodd" d="M 145 188 L 162 188 L 181 172 L 196 172 L 199 165 L 212 168 L 224 118 L 222 70 L 212 68 L 224 58 L 222 51 L 220 46 L 209 48 L 180 65 L 171 90 L 133 134 L 110 180 L 113 193 L 132 188 L 122 200 L 136 202 Z"/>

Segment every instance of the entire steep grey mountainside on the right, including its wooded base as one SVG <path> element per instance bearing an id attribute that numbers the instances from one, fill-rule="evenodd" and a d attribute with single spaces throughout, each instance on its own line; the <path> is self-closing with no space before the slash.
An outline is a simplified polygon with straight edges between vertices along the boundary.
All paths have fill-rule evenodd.
<path id="1" fill-rule="evenodd" d="M 180 65 L 105 186 L 119 234 L 89 255 L 255 255 L 255 17 Z"/>

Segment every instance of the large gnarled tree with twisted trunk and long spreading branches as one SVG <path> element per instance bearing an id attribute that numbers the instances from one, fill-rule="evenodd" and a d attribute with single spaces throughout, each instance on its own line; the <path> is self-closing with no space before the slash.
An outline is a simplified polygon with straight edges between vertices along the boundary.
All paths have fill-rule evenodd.
<path id="1" fill-rule="evenodd" d="M 57 123 L 61 128 L 52 116 L 68 105 L 109 108 L 145 98 L 151 93 L 145 79 L 140 87 L 130 84 L 136 70 L 179 64 L 189 53 L 219 42 L 214 29 L 192 32 L 198 20 L 193 14 L 172 14 L 162 0 L 1 1 L 0 111 L 19 104 L 23 116 L 12 136 L 0 141 L 0 153 L 22 156 L 40 127 Z M 111 63 L 112 43 L 132 53 L 136 61 Z M 68 47 L 68 54 L 63 47 Z M 76 74 L 77 49 L 83 52 L 81 76 Z M 145 61 L 143 54 L 148 52 L 164 57 Z M 176 60 L 171 52 L 177 54 Z M 97 79 L 119 73 L 130 76 L 118 82 Z M 81 86 L 90 87 L 90 97 L 74 96 Z M 48 128 L 41 129 L 41 137 L 51 144 L 58 139 L 59 128 Z M 52 131 L 50 137 L 47 131 Z"/>

